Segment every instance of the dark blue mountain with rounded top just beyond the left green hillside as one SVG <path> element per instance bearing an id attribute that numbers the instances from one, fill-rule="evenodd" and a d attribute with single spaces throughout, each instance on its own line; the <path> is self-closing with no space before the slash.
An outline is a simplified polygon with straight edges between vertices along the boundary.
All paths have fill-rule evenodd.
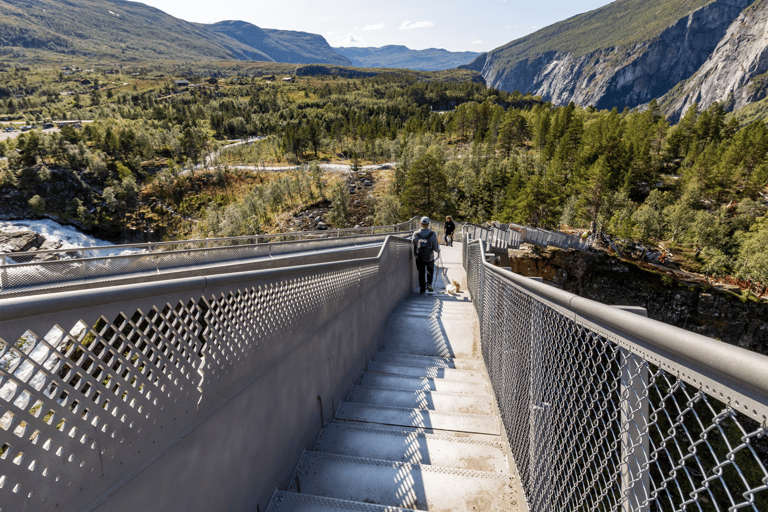
<path id="1" fill-rule="evenodd" d="M 328 41 L 318 34 L 291 30 L 262 29 L 245 21 L 222 21 L 207 28 L 217 34 L 230 37 L 250 48 L 258 49 L 275 62 L 297 64 L 352 63 L 331 48 Z"/>

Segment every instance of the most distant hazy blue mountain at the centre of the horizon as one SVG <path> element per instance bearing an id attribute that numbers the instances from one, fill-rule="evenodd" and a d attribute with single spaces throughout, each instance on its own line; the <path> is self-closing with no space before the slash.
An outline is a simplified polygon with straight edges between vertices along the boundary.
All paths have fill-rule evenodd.
<path id="1" fill-rule="evenodd" d="M 449 52 L 442 48 L 411 50 L 406 46 L 388 45 L 381 48 L 334 48 L 362 68 L 406 68 L 418 71 L 453 69 L 471 62 L 477 52 Z"/>

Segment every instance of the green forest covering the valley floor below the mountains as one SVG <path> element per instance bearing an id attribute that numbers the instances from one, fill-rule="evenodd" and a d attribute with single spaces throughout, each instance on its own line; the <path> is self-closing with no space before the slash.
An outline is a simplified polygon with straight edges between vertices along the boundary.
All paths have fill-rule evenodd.
<path id="1" fill-rule="evenodd" d="M 693 270 L 768 283 L 768 130 L 717 104 L 670 125 L 655 102 L 556 107 L 424 74 L 178 87 L 160 71 L 6 66 L 0 78 L 0 129 L 84 121 L 0 141 L 0 214 L 184 238 L 286 229 L 322 207 L 345 227 L 349 177 L 323 164 L 388 163 L 361 225 L 451 214 L 600 230 L 619 248 L 663 246 Z"/>

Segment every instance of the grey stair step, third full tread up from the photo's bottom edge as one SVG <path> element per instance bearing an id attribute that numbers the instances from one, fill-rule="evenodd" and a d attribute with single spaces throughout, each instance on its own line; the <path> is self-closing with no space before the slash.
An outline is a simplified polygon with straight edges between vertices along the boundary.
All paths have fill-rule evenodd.
<path id="1" fill-rule="evenodd" d="M 342 420 L 364 421 L 366 423 L 500 435 L 498 418 L 483 414 L 460 414 L 341 402 L 336 411 L 336 417 Z"/>

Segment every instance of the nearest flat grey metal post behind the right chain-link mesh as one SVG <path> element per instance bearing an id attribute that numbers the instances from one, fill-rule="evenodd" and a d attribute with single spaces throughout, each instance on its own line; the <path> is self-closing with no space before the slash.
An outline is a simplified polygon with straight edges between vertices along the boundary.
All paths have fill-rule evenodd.
<path id="1" fill-rule="evenodd" d="M 642 317 L 645 308 L 615 306 Z M 621 349 L 621 512 L 648 512 L 648 365 Z"/>

